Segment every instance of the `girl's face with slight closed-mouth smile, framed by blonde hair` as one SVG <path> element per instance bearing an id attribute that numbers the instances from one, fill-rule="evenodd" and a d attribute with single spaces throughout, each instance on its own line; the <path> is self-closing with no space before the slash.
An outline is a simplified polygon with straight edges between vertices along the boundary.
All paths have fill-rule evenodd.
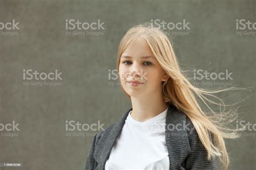
<path id="1" fill-rule="evenodd" d="M 154 57 L 144 38 L 137 38 L 124 51 L 119 63 L 119 77 L 123 89 L 131 97 L 152 96 L 161 92 L 165 71 Z"/>

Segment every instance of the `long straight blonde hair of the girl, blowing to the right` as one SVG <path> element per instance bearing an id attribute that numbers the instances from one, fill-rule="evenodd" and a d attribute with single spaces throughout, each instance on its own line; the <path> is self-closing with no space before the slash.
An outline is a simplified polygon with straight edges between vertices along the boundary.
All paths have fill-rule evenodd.
<path id="1" fill-rule="evenodd" d="M 238 88 L 230 87 L 228 89 L 213 91 L 193 86 L 183 71 L 181 71 L 169 38 L 162 30 L 147 23 L 133 26 L 121 40 L 117 52 L 118 71 L 122 53 L 138 37 L 143 37 L 146 40 L 160 66 L 169 75 L 169 79 L 163 82 L 163 94 L 166 103 L 172 103 L 191 119 L 200 141 L 206 148 L 207 159 L 211 160 L 212 156 L 217 156 L 222 162 L 222 169 L 227 169 L 230 159 L 224 138 L 238 138 L 239 135 L 237 134 L 237 130 L 227 128 L 225 125 L 227 121 L 234 121 L 237 118 L 237 113 L 231 110 L 225 112 L 221 109 L 220 112 L 214 112 L 208 104 L 227 106 L 223 100 L 214 96 L 214 93 L 237 90 Z M 130 98 L 122 86 L 121 88 L 125 95 Z M 220 103 L 210 100 L 207 97 L 218 99 Z M 203 111 L 200 107 L 199 100 L 213 114 L 206 114 L 207 112 Z M 209 133 L 212 133 L 213 141 L 211 141 Z"/>

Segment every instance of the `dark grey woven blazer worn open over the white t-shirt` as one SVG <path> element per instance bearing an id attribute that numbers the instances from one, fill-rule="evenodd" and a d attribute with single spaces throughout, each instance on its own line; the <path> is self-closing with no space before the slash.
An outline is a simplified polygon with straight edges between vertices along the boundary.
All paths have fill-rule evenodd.
<path id="1" fill-rule="evenodd" d="M 132 108 L 124 114 L 121 120 L 93 137 L 85 169 L 105 169 L 114 142 L 119 137 L 125 119 L 131 110 Z M 212 140 L 212 135 L 210 137 Z M 169 104 L 167 110 L 165 138 L 170 169 L 219 169 L 215 157 L 211 158 L 211 161 L 207 160 L 206 149 L 201 144 L 190 118 L 172 104 Z"/>

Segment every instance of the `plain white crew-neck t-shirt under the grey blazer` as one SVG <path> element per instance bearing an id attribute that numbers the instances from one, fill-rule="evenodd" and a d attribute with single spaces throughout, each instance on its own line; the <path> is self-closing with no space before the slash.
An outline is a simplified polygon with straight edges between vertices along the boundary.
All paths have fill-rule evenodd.
<path id="1" fill-rule="evenodd" d="M 144 122 L 132 118 L 130 112 L 105 169 L 169 169 L 165 142 L 167 109 Z"/>

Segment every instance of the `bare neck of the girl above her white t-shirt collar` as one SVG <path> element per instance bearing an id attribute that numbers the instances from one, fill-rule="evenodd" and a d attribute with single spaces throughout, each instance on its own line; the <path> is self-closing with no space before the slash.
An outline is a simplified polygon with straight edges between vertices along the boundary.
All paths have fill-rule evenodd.
<path id="1" fill-rule="evenodd" d="M 164 112 L 168 104 L 162 94 L 146 97 L 131 97 L 131 116 L 137 121 L 146 121 Z"/>

